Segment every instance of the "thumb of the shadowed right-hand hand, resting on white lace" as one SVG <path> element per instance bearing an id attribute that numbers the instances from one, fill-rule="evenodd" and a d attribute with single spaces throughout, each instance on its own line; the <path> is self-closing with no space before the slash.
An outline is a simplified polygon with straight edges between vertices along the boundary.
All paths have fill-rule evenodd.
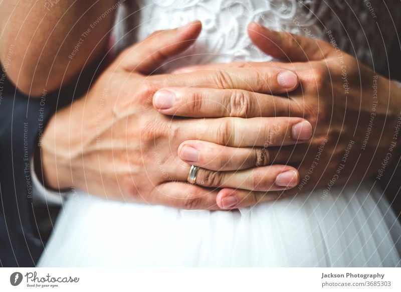
<path id="1" fill-rule="evenodd" d="M 333 51 L 329 43 L 288 32 L 272 31 L 257 23 L 248 25 L 248 34 L 264 53 L 291 62 L 322 60 Z"/>

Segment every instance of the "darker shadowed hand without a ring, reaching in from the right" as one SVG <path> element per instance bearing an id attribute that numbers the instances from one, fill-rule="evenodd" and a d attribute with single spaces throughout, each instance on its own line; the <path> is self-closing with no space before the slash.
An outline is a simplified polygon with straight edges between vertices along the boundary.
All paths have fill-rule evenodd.
<path id="1" fill-rule="evenodd" d="M 266 98 L 259 94 L 258 87 L 254 87 L 251 89 L 258 93 L 241 94 L 241 103 L 233 103 L 235 94 L 222 94 L 216 102 L 208 90 L 198 89 L 195 94 L 193 88 L 177 89 L 186 92 L 181 92 L 182 96 L 190 96 L 185 98 L 185 103 L 202 104 L 202 110 L 194 112 L 190 106 L 182 106 L 178 102 L 177 107 L 161 112 L 196 117 L 208 117 L 210 112 L 217 113 L 214 116 L 244 118 L 291 116 L 310 121 L 314 134 L 309 143 L 280 149 L 266 145 L 265 153 L 269 153 L 271 163 L 279 158 L 280 163 L 297 167 L 300 172 L 298 188 L 285 190 L 287 195 L 323 188 L 324 196 L 333 187 L 344 186 L 346 182 L 358 183 L 372 175 L 379 179 L 385 171 L 383 165 L 389 164 L 395 156 L 395 144 L 399 138 L 401 90 L 398 86 L 340 51 L 330 32 L 331 44 L 274 32 L 257 24 L 249 26 L 249 36 L 266 54 L 290 63 L 211 64 L 178 71 L 226 70 L 233 75 L 235 68 L 250 68 L 257 72 L 265 68 L 287 68 L 296 72 L 301 82 L 301 87 L 290 92 L 289 98 L 281 97 L 277 102 L 278 98 Z M 273 98 L 275 102 L 269 102 Z M 183 144 L 196 148 L 194 141 Z M 209 148 L 217 150 L 221 146 Z M 198 151 L 199 157 L 207 155 L 202 147 Z M 181 158 L 186 160 L 182 155 Z M 286 161 L 283 162 L 283 159 Z M 230 157 L 225 157 L 225 163 L 230 164 Z M 223 207 L 227 198 L 241 202 L 248 197 L 249 191 L 225 188 L 219 192 L 217 203 Z"/>

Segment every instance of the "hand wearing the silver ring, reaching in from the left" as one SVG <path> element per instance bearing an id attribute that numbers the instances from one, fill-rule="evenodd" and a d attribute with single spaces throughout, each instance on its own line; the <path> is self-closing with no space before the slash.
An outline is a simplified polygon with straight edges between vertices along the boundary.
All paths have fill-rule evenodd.
<path id="1" fill-rule="evenodd" d="M 153 102 L 160 102 L 161 107 L 168 105 L 168 88 L 203 84 L 217 98 L 220 92 L 227 95 L 251 87 L 265 93 L 282 93 L 297 87 L 297 78 L 293 78 L 295 82 L 290 87 L 280 84 L 280 74 L 296 76 L 280 68 L 266 68 L 257 74 L 248 68 L 236 69 L 233 76 L 219 70 L 147 76 L 166 58 L 189 47 L 200 29 L 199 22 L 190 23 L 156 32 L 128 48 L 86 96 L 52 117 L 42 140 L 44 177 L 51 187 L 74 186 L 111 199 L 185 209 L 219 209 L 216 188 L 242 188 L 263 194 L 273 191 L 274 197 L 278 194 L 274 191 L 298 183 L 296 169 L 270 165 L 269 157 L 262 152 L 266 141 L 272 145 L 304 142 L 311 128 L 309 124 L 308 136 L 301 131 L 304 136 L 299 140 L 302 126 L 298 125 L 305 123 L 303 118 L 171 119 L 152 107 L 156 91 Z M 271 102 L 276 102 L 275 98 Z M 185 182 L 190 165 L 182 162 L 177 152 L 183 141 L 191 140 L 202 140 L 205 146 L 226 145 L 230 148 L 222 157 L 237 159 L 225 165 L 221 158 L 213 159 L 219 153 L 212 153 L 208 158 L 211 167 L 200 170 L 197 185 L 190 185 Z M 260 167 L 249 169 L 257 164 Z M 259 198 L 258 194 L 254 196 L 257 200 L 268 198 Z M 254 203 L 249 199 L 241 205 L 231 202 L 223 207 Z"/>

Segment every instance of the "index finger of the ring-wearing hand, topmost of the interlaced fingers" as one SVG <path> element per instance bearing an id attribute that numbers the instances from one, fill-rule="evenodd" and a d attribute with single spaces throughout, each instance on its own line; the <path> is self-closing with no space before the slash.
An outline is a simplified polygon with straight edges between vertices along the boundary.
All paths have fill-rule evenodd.
<path id="1" fill-rule="evenodd" d="M 157 80 L 160 77 L 155 76 Z M 152 77 L 150 77 L 152 80 Z M 296 89 L 298 76 L 290 70 L 278 67 L 227 68 L 223 70 L 200 70 L 187 74 L 165 75 L 162 87 L 208 87 L 220 89 L 243 89 L 259 93 L 279 94 Z"/>

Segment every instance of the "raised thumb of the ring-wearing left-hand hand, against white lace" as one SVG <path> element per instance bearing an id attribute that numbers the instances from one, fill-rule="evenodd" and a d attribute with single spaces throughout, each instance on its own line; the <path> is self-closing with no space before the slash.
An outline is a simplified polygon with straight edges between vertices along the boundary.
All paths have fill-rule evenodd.
<path id="1" fill-rule="evenodd" d="M 189 48 L 202 30 L 200 21 L 182 27 L 156 31 L 145 40 L 125 49 L 117 58 L 117 66 L 125 71 L 150 74 L 168 58 Z"/>

